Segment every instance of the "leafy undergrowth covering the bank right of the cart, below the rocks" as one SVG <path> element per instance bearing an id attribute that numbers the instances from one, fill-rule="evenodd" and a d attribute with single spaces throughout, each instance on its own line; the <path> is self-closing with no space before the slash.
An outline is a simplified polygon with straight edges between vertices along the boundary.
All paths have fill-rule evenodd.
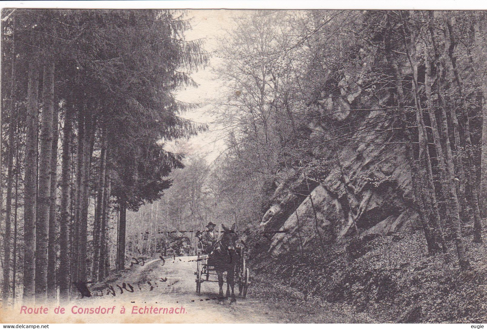
<path id="1" fill-rule="evenodd" d="M 471 270 L 460 270 L 451 240 L 447 253 L 430 255 L 422 231 L 374 234 L 273 259 L 254 255 L 250 294 L 366 322 L 485 323 L 487 247 L 470 242 L 471 230 L 464 234 Z"/>

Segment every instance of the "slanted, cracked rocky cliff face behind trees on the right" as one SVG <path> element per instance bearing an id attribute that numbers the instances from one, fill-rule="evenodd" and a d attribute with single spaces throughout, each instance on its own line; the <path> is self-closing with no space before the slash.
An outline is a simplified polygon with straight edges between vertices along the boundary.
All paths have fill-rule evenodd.
<path id="1" fill-rule="evenodd" d="M 342 99 L 340 108 L 343 104 Z M 341 114 L 337 120 L 349 115 Z M 404 144 L 393 133 L 389 117 L 386 111 L 372 108 L 362 118 L 364 128 L 336 152 L 324 147 L 320 156 L 334 160 L 334 165 L 329 174 L 319 177 L 319 184 L 305 179 L 305 174 L 284 175 L 261 222 L 264 232 L 286 231 L 272 236 L 270 252 L 296 250 L 315 239 L 340 242 L 356 230 L 361 235 L 385 234 L 420 225 L 412 210 Z M 326 129 L 322 131 L 326 134 Z"/>

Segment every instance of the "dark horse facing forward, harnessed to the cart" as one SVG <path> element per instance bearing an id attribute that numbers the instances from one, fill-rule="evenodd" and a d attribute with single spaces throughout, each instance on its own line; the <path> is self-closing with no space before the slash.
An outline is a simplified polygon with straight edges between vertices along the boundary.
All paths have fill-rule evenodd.
<path id="1" fill-rule="evenodd" d="M 222 238 L 215 243 L 213 253 L 210 256 L 209 262 L 213 266 L 218 275 L 218 285 L 220 291 L 218 293 L 218 300 L 220 304 L 223 304 L 225 299 L 223 295 L 223 273 L 226 271 L 226 297 L 231 297 L 230 305 L 237 304 L 235 293 L 233 291 L 235 287 L 234 272 L 235 265 L 240 259 L 240 255 L 236 251 L 235 243 L 238 239 L 238 235 L 235 232 L 235 224 L 231 228 L 227 228 L 222 225 L 224 233 Z M 231 294 L 230 290 L 231 289 Z"/>

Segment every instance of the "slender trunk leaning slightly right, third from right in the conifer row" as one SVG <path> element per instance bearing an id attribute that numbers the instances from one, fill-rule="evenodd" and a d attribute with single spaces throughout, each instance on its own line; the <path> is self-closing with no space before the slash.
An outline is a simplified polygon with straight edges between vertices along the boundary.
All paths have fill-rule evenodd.
<path id="1" fill-rule="evenodd" d="M 100 248 L 101 248 L 101 226 L 103 213 L 103 193 L 105 192 L 105 172 L 106 172 L 106 154 L 107 154 L 107 130 L 103 129 L 102 146 L 100 154 L 100 169 L 98 178 L 98 191 L 96 192 L 96 209 L 93 225 L 93 268 L 92 277 L 96 280 L 99 277 L 100 267 Z"/>

